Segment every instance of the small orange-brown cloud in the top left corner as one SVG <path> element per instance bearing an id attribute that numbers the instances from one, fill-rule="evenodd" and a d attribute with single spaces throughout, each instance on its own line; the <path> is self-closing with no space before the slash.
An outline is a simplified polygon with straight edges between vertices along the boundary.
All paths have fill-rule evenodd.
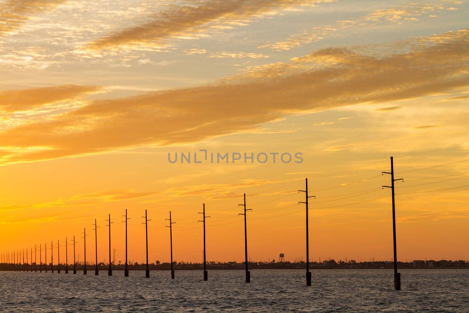
<path id="1" fill-rule="evenodd" d="M 30 16 L 45 12 L 66 0 L 7 0 L 0 3 L 0 37 L 11 35 Z"/>

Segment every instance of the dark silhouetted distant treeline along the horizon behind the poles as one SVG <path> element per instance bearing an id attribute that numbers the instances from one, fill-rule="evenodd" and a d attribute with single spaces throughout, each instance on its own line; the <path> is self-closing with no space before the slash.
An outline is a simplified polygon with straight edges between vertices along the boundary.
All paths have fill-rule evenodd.
<path id="1" fill-rule="evenodd" d="M 413 260 L 412 262 L 397 262 L 399 268 L 469 268 L 469 262 L 464 260 Z M 84 268 L 83 262 L 76 264 L 76 270 L 82 271 Z M 111 265 L 113 270 L 124 270 L 125 264 L 113 264 Z M 192 263 L 192 262 L 173 262 L 173 267 L 176 270 L 202 270 L 204 268 L 203 263 Z M 304 261 L 299 262 L 249 262 L 250 269 L 304 269 L 306 263 Z M 53 269 L 57 270 L 57 264 L 53 265 Z M 86 265 L 87 270 L 94 270 L 96 265 L 94 263 L 88 263 Z M 109 268 L 109 264 L 104 262 L 98 263 L 98 270 L 105 271 Z M 129 270 L 145 270 L 146 263 L 129 262 Z M 149 263 L 148 268 L 150 270 L 170 270 L 170 263 Z M 310 262 L 310 269 L 367 269 L 367 268 L 393 268 L 392 261 L 371 261 L 371 262 L 356 262 L 355 260 L 349 260 L 344 262 L 340 260 L 324 260 L 322 262 Z M 5 264 L 2 263 L 0 270 L 30 270 L 31 264 Z M 39 270 L 39 264 L 35 266 L 32 264 L 33 270 Z M 47 270 L 50 271 L 52 265 L 47 265 Z M 65 270 L 65 264 L 60 265 L 61 270 Z M 207 262 L 207 270 L 229 270 L 229 269 L 244 269 L 244 262 Z M 42 270 L 45 270 L 45 265 L 42 264 Z M 68 264 L 68 270 L 73 270 L 73 264 Z"/>

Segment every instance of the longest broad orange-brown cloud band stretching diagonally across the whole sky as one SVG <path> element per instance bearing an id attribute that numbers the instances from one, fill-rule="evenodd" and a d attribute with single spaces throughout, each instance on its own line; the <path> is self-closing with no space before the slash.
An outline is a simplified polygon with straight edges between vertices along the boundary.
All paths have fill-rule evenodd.
<path id="1" fill-rule="evenodd" d="M 383 57 L 326 48 L 213 84 L 94 100 L 0 132 L 0 164 L 193 143 L 290 114 L 467 89 L 468 37 L 448 32 L 442 43 Z"/>

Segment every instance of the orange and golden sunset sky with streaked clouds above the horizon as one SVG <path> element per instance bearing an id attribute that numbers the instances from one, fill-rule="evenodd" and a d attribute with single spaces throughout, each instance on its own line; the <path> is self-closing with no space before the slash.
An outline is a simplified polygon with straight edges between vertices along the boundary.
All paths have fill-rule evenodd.
<path id="1" fill-rule="evenodd" d="M 127 209 L 140 263 L 147 210 L 149 261 L 167 262 L 171 211 L 174 260 L 201 262 L 205 203 L 207 260 L 241 262 L 245 193 L 250 259 L 305 260 L 308 178 L 311 260 L 391 260 L 393 156 L 398 260 L 469 260 L 468 10 L 0 1 L 0 251 L 59 240 L 63 260 L 75 236 L 83 261 L 96 219 L 104 261 L 111 214 L 124 262 Z"/>

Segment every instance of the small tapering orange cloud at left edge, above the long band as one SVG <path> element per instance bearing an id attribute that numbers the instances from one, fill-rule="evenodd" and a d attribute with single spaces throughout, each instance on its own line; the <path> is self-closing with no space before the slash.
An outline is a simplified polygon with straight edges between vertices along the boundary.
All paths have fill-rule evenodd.
<path id="1" fill-rule="evenodd" d="M 35 89 L 0 91 L 0 112 L 30 110 L 76 99 L 102 90 L 98 86 L 61 85 Z"/>

